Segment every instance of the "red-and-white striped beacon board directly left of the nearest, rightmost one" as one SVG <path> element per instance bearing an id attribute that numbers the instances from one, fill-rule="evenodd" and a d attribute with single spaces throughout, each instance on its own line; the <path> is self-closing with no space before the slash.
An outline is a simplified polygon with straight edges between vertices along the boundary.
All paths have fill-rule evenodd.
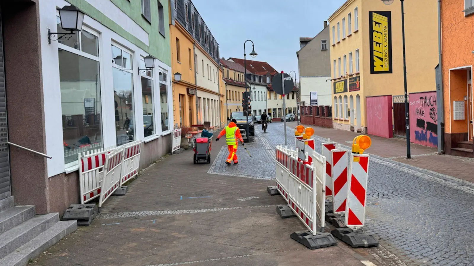
<path id="1" fill-rule="evenodd" d="M 346 211 L 348 152 L 346 149 L 331 150 L 333 213 Z"/>

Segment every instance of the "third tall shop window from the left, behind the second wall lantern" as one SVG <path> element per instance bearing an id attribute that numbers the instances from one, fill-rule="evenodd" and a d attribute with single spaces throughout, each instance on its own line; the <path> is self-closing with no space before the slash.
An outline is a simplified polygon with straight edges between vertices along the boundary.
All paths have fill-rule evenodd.
<path id="1" fill-rule="evenodd" d="M 140 58 L 139 69 L 146 69 L 145 60 Z M 153 71 L 140 71 L 140 78 L 142 83 L 142 103 L 143 103 L 143 131 L 145 138 L 155 135 L 155 97 L 153 84 Z"/>

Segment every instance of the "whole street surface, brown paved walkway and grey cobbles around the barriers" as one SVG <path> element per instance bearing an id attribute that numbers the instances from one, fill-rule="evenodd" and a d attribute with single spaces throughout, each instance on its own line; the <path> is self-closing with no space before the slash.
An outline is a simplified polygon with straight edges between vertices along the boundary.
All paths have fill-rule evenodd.
<path id="1" fill-rule="evenodd" d="M 294 146 L 290 125 L 288 143 Z M 474 265 L 468 230 L 474 184 L 377 155 L 369 165 L 364 229 L 380 238 L 380 246 L 304 248 L 289 238 L 304 229 L 302 223 L 281 219 L 275 204 L 283 198 L 265 191 L 274 184 L 274 147 L 284 143 L 283 123 L 269 124 L 265 134 L 260 125 L 255 129 L 246 144 L 253 158 L 239 146 L 239 164 L 226 167 L 225 143 L 213 142 L 211 165 L 193 165 L 190 151 L 164 159 L 129 184 L 127 195 L 110 198 L 90 227 L 33 265 Z M 325 140 L 315 139 L 317 147 Z"/>

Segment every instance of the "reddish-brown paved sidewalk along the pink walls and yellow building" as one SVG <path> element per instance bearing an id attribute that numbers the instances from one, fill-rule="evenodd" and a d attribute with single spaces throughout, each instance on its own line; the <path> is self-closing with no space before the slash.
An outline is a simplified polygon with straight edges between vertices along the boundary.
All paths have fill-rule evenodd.
<path id="1" fill-rule="evenodd" d="M 293 128 L 296 125 L 297 123 L 294 122 L 288 123 L 288 126 Z M 315 134 L 318 136 L 330 138 L 335 142 L 346 144 L 347 146 L 350 146 L 352 140 L 359 135 L 358 133 L 333 128 L 311 127 L 314 128 Z M 290 134 L 293 136 L 292 133 Z M 407 160 L 406 140 L 399 138 L 385 139 L 378 136 L 370 137 L 372 139 L 372 146 L 367 150 L 370 154 L 474 182 L 474 159 L 451 155 L 438 155 L 438 149 L 411 143 L 411 159 Z"/>

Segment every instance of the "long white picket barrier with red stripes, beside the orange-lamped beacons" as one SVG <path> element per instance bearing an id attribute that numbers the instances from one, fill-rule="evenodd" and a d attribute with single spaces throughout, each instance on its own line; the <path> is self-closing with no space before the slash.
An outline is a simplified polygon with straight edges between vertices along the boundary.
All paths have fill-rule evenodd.
<path id="1" fill-rule="evenodd" d="M 312 235 L 316 235 L 318 218 L 322 231 L 325 226 L 324 165 L 326 158 L 313 152 L 310 155 L 313 163 L 308 164 L 307 160 L 298 160 L 296 154 L 297 151 L 281 145 L 276 147 L 276 187 L 293 213 Z"/>

